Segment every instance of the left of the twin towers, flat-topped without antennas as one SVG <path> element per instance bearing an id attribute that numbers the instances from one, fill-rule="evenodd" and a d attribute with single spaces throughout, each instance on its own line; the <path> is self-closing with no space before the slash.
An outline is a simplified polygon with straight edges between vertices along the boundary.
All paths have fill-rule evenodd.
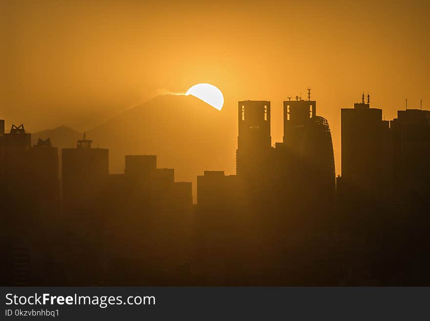
<path id="1" fill-rule="evenodd" d="M 270 164 L 267 153 L 271 149 L 270 102 L 241 101 L 238 103 L 236 172 L 253 175 L 263 172 Z"/>

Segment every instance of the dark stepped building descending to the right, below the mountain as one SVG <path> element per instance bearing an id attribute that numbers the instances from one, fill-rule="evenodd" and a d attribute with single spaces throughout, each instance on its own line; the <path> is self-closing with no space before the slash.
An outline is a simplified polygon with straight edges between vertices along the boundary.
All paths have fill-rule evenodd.
<path id="1" fill-rule="evenodd" d="M 175 182 L 173 169 L 158 169 L 155 155 L 126 155 L 124 173 L 108 175 L 104 194 L 106 280 L 169 284 L 175 266 L 189 257 L 191 183 Z M 125 251 L 130 244 L 134 250 Z"/>

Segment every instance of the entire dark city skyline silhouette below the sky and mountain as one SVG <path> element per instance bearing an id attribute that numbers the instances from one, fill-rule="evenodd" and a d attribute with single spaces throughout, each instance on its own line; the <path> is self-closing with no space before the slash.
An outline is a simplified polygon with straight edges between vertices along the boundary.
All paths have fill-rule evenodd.
<path id="1" fill-rule="evenodd" d="M 31 146 L 0 120 L 1 285 L 428 285 L 430 112 L 342 108 L 342 176 L 316 102 L 238 103 L 237 172 L 175 182 L 155 155 Z"/>

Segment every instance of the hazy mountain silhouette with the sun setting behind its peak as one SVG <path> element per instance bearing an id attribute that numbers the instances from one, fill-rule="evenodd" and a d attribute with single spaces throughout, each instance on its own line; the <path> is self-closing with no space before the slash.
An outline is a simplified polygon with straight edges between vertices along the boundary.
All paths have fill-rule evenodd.
<path id="1" fill-rule="evenodd" d="M 225 107 L 224 107 L 225 108 Z M 70 148 L 82 133 L 59 127 L 32 135 L 51 138 L 53 146 Z M 237 127 L 223 110 L 193 96 L 162 95 L 88 130 L 93 147 L 109 149 L 109 169 L 124 172 L 126 154 L 157 155 L 158 168 L 174 168 L 176 181 L 192 181 L 205 170 L 235 173 Z"/>

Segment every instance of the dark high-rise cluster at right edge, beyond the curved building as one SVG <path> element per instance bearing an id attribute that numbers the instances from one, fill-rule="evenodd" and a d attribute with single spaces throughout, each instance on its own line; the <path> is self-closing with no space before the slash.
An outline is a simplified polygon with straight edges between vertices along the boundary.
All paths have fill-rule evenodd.
<path id="1" fill-rule="evenodd" d="M 430 284 L 429 160 L 429 111 L 383 121 L 364 95 L 342 109 L 337 221 L 348 284 Z"/>

